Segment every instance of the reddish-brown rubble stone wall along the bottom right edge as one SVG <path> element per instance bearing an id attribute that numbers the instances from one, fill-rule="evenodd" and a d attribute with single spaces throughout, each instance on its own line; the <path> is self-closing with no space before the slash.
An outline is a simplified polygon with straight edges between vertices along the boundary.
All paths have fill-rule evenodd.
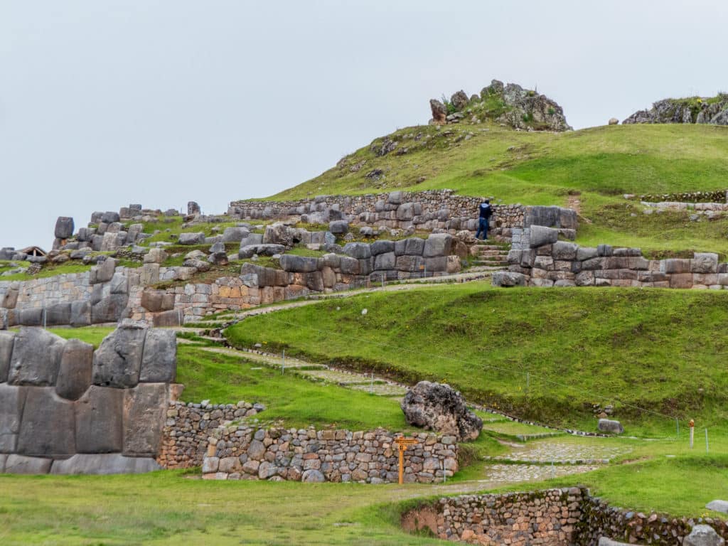
<path id="1" fill-rule="evenodd" d="M 402 524 L 408 531 L 430 529 L 440 539 L 492 546 L 597 546 L 601 537 L 673 546 L 697 524 L 728 538 L 725 521 L 624 510 L 582 487 L 445 497 L 408 510 Z"/>

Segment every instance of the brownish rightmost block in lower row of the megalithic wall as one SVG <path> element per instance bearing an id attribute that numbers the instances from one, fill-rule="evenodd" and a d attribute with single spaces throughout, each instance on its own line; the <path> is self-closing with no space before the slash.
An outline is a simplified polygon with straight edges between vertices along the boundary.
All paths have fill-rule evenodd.
<path id="1" fill-rule="evenodd" d="M 157 455 L 167 415 L 167 392 L 164 383 L 141 383 L 124 391 L 124 455 Z"/>

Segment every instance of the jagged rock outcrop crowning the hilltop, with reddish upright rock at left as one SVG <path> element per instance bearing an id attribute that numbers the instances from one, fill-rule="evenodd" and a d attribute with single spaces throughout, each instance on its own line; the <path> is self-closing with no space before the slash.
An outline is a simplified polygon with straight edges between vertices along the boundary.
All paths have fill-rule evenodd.
<path id="1" fill-rule="evenodd" d="M 567 131 L 563 108 L 546 95 L 523 89 L 518 84 L 506 84 L 494 79 L 483 87 L 480 95 L 467 98 L 458 91 L 450 100 L 430 100 L 430 123 L 482 123 L 491 120 L 521 130 Z"/>

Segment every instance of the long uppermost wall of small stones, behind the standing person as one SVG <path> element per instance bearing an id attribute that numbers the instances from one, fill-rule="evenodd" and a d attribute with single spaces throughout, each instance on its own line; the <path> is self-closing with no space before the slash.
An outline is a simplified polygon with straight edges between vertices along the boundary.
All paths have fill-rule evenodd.
<path id="1" fill-rule="evenodd" d="M 328 223 L 346 219 L 353 223 L 387 226 L 393 229 L 446 229 L 457 232 L 478 229 L 478 205 L 485 197 L 456 195 L 448 189 L 428 191 L 392 191 L 389 194 L 325 195 L 296 201 L 234 201 L 228 214 L 234 218 L 290 218 L 300 216 L 301 221 Z M 523 205 L 492 204 L 491 226 L 494 234 L 510 237 L 514 227 L 530 226 L 531 218 L 539 218 L 539 209 L 560 207 L 526 207 Z M 559 223 L 544 225 L 577 229 L 576 213 L 569 209 L 558 218 Z"/>

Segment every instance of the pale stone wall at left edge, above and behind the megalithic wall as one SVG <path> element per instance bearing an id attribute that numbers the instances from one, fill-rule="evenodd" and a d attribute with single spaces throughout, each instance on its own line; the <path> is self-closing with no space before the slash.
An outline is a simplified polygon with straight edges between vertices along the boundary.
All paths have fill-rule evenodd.
<path id="1" fill-rule="evenodd" d="M 89 272 L 26 281 L 0 281 L 0 329 L 24 326 L 87 326 L 116 323 L 124 316 L 132 269 L 108 258 Z"/>

